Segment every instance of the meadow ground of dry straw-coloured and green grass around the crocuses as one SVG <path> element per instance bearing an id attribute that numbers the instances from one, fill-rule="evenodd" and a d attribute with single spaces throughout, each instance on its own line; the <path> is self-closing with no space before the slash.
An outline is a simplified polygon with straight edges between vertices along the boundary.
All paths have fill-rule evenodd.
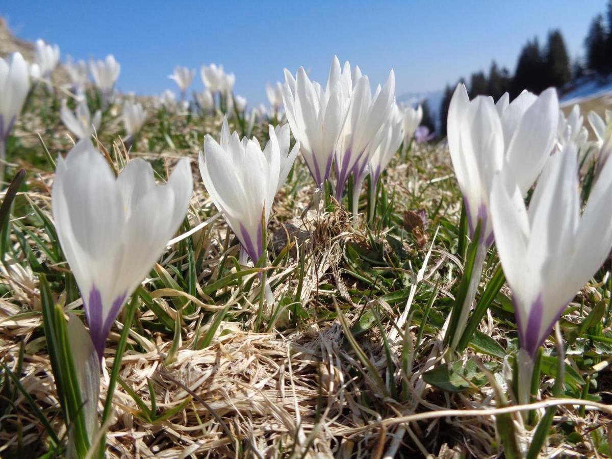
<path id="1" fill-rule="evenodd" d="M 7 182 L 25 171 L 0 233 L 7 458 L 64 457 L 73 428 L 43 326 L 50 304 L 84 321 L 50 207 L 54 162 L 73 146 L 59 119 L 63 97 L 37 84 L 7 143 Z M 99 108 L 93 90 L 88 100 Z M 188 157 L 195 190 L 177 236 L 217 214 L 197 155 L 206 133 L 218 136 L 223 114 L 145 100 L 147 122 L 126 147 L 118 102 L 104 109 L 95 138 L 114 171 L 140 157 L 165 181 Z M 231 116 L 230 128 L 242 133 L 244 120 Z M 255 124 L 262 144 L 267 132 L 267 121 Z M 166 248 L 134 295 L 131 326 L 124 308 L 106 343 L 100 412 L 127 340 L 103 426 L 108 457 L 520 457 L 537 438 L 543 457 L 611 456 L 610 259 L 545 342 L 532 405 L 517 407 L 517 326 L 494 247 L 476 297 L 482 316 L 464 349 L 447 352 L 470 249 L 444 141 L 404 146 L 375 209 L 367 190 L 356 212 L 346 196 L 319 202 L 315 190 L 299 157 L 268 226 L 272 307 L 263 302 L 262 270 L 237 262 L 239 244 L 223 218 Z M 538 431 L 547 416 L 550 428 Z"/>

